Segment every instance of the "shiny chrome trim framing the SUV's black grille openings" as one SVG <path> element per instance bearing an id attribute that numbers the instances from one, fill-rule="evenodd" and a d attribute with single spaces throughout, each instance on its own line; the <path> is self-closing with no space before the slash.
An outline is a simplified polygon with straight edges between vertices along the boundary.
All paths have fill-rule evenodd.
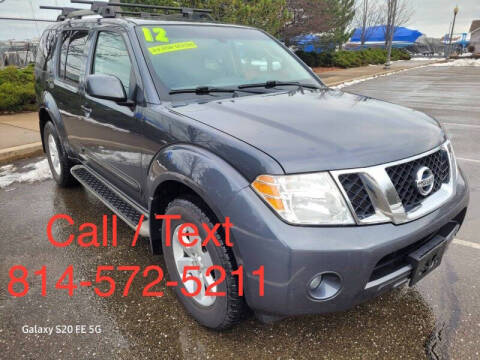
<path id="1" fill-rule="evenodd" d="M 402 201 L 398 196 L 397 190 L 387 174 L 386 169 L 423 158 L 440 150 L 444 150 L 448 154 L 450 166 L 450 177 L 448 183 L 442 184 L 437 192 L 426 197 L 417 207 L 408 212 L 405 211 Z M 441 146 L 408 159 L 366 168 L 336 170 L 331 171 L 330 173 L 342 192 L 342 195 L 350 208 L 352 216 L 358 225 L 370 225 L 388 222 L 398 225 L 416 220 L 431 213 L 445 204 L 445 202 L 455 195 L 454 185 L 457 180 L 457 165 L 450 141 L 446 141 Z M 350 199 L 339 180 L 339 176 L 345 174 L 358 174 L 362 178 L 365 189 L 370 196 L 373 207 L 375 208 L 374 215 L 363 219 L 358 218 Z"/>

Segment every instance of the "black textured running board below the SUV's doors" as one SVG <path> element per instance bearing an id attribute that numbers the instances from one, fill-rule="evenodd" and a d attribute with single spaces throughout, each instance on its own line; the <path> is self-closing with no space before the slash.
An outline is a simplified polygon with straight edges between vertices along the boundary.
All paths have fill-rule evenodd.
<path id="1" fill-rule="evenodd" d="M 145 215 L 140 228 L 140 236 L 150 236 L 150 226 L 147 214 L 134 203 L 126 199 L 112 185 L 101 178 L 93 170 L 83 166 L 76 165 L 70 170 L 73 177 L 78 180 L 87 190 L 95 195 L 105 206 L 112 210 L 120 219 L 125 221 L 133 230 L 137 229 L 142 215 Z"/>

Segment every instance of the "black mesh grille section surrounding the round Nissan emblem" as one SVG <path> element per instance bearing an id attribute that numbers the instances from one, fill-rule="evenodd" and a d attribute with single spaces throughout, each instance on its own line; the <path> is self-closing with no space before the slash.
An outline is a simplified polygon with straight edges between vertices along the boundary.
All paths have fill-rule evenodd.
<path id="1" fill-rule="evenodd" d="M 430 195 L 440 190 L 442 184 L 449 182 L 450 163 L 448 153 L 445 150 L 439 150 L 423 158 L 386 168 L 387 174 L 407 212 L 419 205 L 425 198 L 415 186 L 416 172 L 421 166 L 428 167 L 435 175 L 435 182 Z"/>

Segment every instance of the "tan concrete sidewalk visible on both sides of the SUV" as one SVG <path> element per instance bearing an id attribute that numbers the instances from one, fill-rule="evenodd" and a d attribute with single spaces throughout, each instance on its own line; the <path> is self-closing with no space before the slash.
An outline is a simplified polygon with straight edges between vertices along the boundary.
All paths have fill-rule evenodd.
<path id="1" fill-rule="evenodd" d="M 318 75 L 326 85 L 336 86 L 347 81 L 394 73 L 438 61 L 396 61 L 390 70 L 385 70 L 383 65 L 372 65 L 319 72 Z M 37 113 L 0 115 L 0 164 L 38 155 L 42 151 Z"/>

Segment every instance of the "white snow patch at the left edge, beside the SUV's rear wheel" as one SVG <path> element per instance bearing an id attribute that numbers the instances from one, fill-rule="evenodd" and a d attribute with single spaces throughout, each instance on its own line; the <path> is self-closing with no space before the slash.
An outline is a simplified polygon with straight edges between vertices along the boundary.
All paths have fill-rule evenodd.
<path id="1" fill-rule="evenodd" d="M 33 183 L 51 178 L 52 174 L 50 173 L 47 159 L 21 167 L 17 167 L 14 164 L 0 167 L 0 189 L 6 188 L 15 182 Z"/>

